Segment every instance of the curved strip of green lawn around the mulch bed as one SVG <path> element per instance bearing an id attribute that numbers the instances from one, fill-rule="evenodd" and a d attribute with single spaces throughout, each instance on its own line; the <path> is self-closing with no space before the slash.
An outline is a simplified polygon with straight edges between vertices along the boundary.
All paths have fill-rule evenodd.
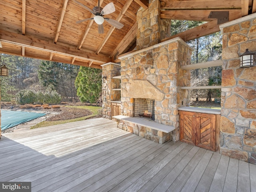
<path id="1" fill-rule="evenodd" d="M 70 120 L 62 120 L 62 121 L 42 121 L 35 126 L 32 126 L 30 129 L 34 128 L 39 128 L 39 127 L 46 127 L 46 126 L 52 126 L 52 125 L 58 125 L 58 124 L 64 124 L 64 123 L 69 123 L 69 122 L 75 122 L 75 121 L 82 121 L 86 120 L 91 117 L 95 117 L 99 115 L 101 107 L 96 107 L 96 106 L 66 106 L 69 108 L 81 108 L 81 109 L 87 109 L 92 112 L 91 115 L 85 116 L 85 117 L 80 117 L 76 119 L 70 119 Z"/>

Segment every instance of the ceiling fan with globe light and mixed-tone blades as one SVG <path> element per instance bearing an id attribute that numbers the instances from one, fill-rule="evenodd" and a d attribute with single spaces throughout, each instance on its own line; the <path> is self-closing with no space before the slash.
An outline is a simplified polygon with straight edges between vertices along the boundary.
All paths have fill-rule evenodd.
<path id="1" fill-rule="evenodd" d="M 103 28 L 103 22 L 104 20 L 106 20 L 109 24 L 111 24 L 112 26 L 121 29 L 124 25 L 116 20 L 110 19 L 110 18 L 104 18 L 104 15 L 110 14 L 112 12 L 115 12 L 115 6 L 114 3 L 109 3 L 107 4 L 104 8 L 100 7 L 100 1 L 98 6 L 95 6 L 92 10 L 90 10 L 90 8 L 88 8 L 87 6 L 85 6 L 84 4 L 74 0 L 77 4 L 79 4 L 80 6 L 86 8 L 88 11 L 90 11 L 92 14 L 94 14 L 95 16 L 93 18 L 87 18 L 87 19 L 83 19 L 80 21 L 77 21 L 76 23 L 81 23 L 87 20 L 94 20 L 97 24 L 98 24 L 98 32 L 99 34 L 104 33 L 104 28 Z"/>

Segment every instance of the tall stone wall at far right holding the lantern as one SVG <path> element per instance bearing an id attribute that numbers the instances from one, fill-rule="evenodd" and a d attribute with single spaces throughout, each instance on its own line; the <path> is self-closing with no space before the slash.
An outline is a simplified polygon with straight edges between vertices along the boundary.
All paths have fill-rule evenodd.
<path id="1" fill-rule="evenodd" d="M 223 34 L 220 153 L 256 164 L 256 66 L 239 68 L 256 51 L 256 14 L 220 26 Z"/>

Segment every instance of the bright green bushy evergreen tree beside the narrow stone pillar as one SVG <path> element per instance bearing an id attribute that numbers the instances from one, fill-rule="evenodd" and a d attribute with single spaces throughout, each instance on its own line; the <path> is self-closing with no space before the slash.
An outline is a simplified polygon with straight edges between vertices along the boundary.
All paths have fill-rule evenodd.
<path id="1" fill-rule="evenodd" d="M 81 102 L 94 103 L 101 94 L 102 87 L 102 70 L 80 67 L 80 71 L 76 77 L 75 86 L 77 88 L 77 96 Z"/>

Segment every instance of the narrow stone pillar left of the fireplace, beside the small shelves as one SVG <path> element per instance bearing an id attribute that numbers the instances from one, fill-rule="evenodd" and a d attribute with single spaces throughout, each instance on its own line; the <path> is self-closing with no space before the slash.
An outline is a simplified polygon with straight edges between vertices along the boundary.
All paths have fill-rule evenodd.
<path id="1" fill-rule="evenodd" d="M 102 117 L 111 119 L 111 101 L 120 101 L 120 91 L 112 90 L 120 87 L 120 79 L 114 79 L 114 76 L 120 76 L 120 64 L 106 63 L 102 66 Z"/>

